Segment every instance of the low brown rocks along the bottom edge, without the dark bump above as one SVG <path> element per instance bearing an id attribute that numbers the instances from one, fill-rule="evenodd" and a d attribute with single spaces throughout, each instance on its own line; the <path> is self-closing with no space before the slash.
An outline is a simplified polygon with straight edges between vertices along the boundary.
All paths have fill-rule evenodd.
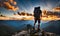
<path id="1" fill-rule="evenodd" d="M 12 36 L 60 36 L 55 33 L 50 33 L 50 32 L 45 32 L 45 31 L 40 31 L 36 33 L 28 32 L 26 30 L 23 30 L 19 33 L 15 33 L 15 35 Z"/>

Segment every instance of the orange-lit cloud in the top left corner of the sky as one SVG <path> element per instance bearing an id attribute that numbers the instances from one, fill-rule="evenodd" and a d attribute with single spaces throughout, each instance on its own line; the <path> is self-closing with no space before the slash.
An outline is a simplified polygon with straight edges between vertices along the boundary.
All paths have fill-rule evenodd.
<path id="1" fill-rule="evenodd" d="M 16 5 L 17 3 L 14 0 L 0 0 L 0 7 L 4 7 L 8 10 L 18 10 L 19 8 Z"/>

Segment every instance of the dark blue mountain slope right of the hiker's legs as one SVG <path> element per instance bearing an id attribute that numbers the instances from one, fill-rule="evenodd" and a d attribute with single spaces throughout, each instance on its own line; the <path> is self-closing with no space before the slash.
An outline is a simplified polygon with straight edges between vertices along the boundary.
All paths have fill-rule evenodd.
<path id="1" fill-rule="evenodd" d="M 60 20 L 50 21 L 50 22 L 48 22 L 46 24 L 47 25 L 50 24 L 50 25 L 43 28 L 45 31 L 60 34 Z"/>

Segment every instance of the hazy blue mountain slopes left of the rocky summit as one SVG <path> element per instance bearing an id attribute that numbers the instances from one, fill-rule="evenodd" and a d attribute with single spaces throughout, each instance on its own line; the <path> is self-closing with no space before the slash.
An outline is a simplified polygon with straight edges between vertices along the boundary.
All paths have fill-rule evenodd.
<path id="1" fill-rule="evenodd" d="M 18 25 L 18 23 L 14 24 L 16 22 L 13 21 L 12 23 L 7 20 L 6 21 L 0 20 L 0 36 L 11 36 L 12 34 L 15 34 L 16 32 L 20 31 L 26 26 L 24 24 L 21 24 L 21 25 Z M 14 25 L 18 25 L 19 27 L 16 27 L 16 26 L 14 27 Z M 21 26 L 24 26 L 24 27 L 21 27 Z"/>

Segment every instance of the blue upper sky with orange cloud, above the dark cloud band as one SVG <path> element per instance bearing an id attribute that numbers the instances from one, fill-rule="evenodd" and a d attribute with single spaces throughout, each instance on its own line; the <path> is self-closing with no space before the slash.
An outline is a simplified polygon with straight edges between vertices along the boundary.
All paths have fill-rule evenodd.
<path id="1" fill-rule="evenodd" d="M 7 0 L 7 2 L 2 1 L 2 3 L 5 5 L 0 6 L 0 12 L 6 16 L 13 16 L 14 13 L 22 11 L 33 13 L 34 7 L 37 6 L 40 6 L 41 10 L 52 10 L 55 7 L 60 7 L 60 0 L 13 0 L 13 2 Z M 9 6 L 7 7 L 6 3 L 10 3 L 12 8 L 8 8 Z"/>

